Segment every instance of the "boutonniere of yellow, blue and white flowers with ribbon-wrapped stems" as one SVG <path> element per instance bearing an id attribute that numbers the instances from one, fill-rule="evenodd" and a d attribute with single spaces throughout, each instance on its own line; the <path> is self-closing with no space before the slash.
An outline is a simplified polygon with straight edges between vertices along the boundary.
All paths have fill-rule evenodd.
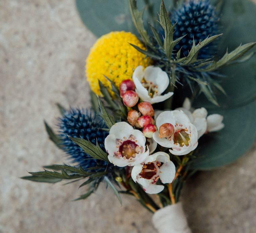
<path id="1" fill-rule="evenodd" d="M 133 195 L 155 213 L 159 232 L 190 232 L 181 190 L 204 158 L 202 148 L 224 128 L 218 107 L 208 114 L 202 106 L 205 100 L 219 106 L 217 95 L 225 94 L 220 68 L 249 60 L 254 53 L 245 54 L 256 43 L 220 57 L 220 14 L 208 0 L 179 1 L 170 13 L 161 1 L 158 25 L 151 14 L 154 26 L 145 26 L 135 0 L 128 2 L 136 35 L 105 34 L 86 60 L 92 109 L 58 105 L 58 133 L 45 122 L 50 139 L 73 165 L 45 166 L 22 178 L 83 181 L 79 187 L 87 186 L 87 192 L 76 200 L 103 182 L 120 203 L 120 194 Z"/>

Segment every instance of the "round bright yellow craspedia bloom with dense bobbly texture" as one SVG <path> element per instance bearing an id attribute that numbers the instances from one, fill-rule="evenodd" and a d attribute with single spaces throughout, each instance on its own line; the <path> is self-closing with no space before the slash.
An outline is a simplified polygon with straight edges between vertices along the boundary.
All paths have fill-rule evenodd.
<path id="1" fill-rule="evenodd" d="M 86 59 L 86 77 L 92 91 L 100 95 L 98 80 L 104 86 L 110 83 L 103 75 L 119 87 L 125 79 L 132 79 L 137 66 L 147 67 L 152 62 L 129 43 L 145 49 L 138 38 L 130 32 L 110 32 L 100 37 L 90 50 Z"/>

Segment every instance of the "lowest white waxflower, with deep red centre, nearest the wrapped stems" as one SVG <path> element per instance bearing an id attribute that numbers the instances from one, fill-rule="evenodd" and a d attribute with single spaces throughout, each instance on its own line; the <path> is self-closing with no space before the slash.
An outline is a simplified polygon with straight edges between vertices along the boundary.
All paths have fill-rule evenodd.
<path id="1" fill-rule="evenodd" d="M 132 179 L 142 185 L 146 193 L 159 193 L 164 189 L 163 185 L 157 185 L 158 179 L 162 183 L 171 183 L 175 177 L 175 165 L 165 152 L 157 152 L 149 155 L 142 164 L 132 168 Z"/>

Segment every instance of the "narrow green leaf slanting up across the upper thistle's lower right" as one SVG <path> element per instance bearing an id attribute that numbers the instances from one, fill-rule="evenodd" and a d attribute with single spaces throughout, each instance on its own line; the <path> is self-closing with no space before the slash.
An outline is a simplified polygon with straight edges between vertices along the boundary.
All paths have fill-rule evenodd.
<path id="1" fill-rule="evenodd" d="M 222 34 L 207 37 L 202 42 L 199 42 L 197 45 L 195 45 L 195 41 L 193 40 L 193 46 L 192 46 L 191 50 L 189 51 L 189 54 L 186 57 L 184 64 L 189 65 L 189 64 L 195 62 L 200 49 L 202 49 L 206 45 L 210 44 L 212 41 L 216 40 L 221 35 Z"/>

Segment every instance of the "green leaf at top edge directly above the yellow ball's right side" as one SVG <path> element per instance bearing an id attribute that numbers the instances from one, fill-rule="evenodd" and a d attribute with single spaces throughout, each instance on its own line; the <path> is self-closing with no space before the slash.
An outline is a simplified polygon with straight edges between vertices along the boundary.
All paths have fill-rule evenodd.
<path id="1" fill-rule="evenodd" d="M 140 34 L 142 41 L 146 45 L 149 45 L 150 47 L 152 47 L 147 31 L 143 26 L 142 16 L 143 16 L 144 10 L 138 11 L 136 0 L 129 0 L 129 9 L 130 9 L 134 26 L 137 29 L 138 33 Z"/>

